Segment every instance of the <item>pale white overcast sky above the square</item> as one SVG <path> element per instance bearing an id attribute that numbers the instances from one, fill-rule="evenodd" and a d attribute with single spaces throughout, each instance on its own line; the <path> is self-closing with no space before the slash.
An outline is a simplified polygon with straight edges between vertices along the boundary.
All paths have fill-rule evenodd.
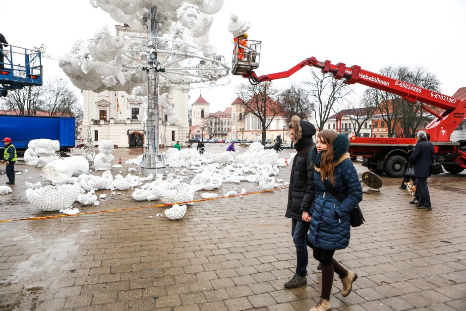
<path id="1" fill-rule="evenodd" d="M 251 21 L 250 39 L 262 40 L 258 75 L 284 71 L 308 57 L 357 64 L 369 71 L 386 65 L 424 66 L 452 95 L 466 86 L 465 0 L 224 0 L 214 16 L 211 41 L 231 61 L 233 36 L 227 25 L 232 12 Z M 0 33 L 16 46 L 46 46 L 53 58 L 74 42 L 90 39 L 116 22 L 88 0 L 2 0 Z M 62 76 L 58 61 L 44 59 L 45 78 Z M 309 76 L 310 68 L 274 82 L 280 89 Z M 314 69 L 315 70 L 315 69 Z M 246 79 L 230 76 L 227 86 L 193 89 L 190 103 L 202 90 L 211 112 L 224 110 L 236 98 L 234 88 Z M 364 87 L 357 87 L 355 99 Z"/>

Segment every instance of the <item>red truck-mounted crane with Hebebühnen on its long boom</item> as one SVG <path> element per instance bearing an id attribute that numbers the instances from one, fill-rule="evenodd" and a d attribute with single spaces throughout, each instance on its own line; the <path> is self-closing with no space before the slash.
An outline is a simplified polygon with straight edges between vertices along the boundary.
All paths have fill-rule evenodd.
<path id="1" fill-rule="evenodd" d="M 466 141 L 452 142 L 451 133 L 465 119 L 466 100 L 460 100 L 404 81 L 362 69 L 358 65 L 348 67 L 345 63 L 332 64 L 308 58 L 287 71 L 257 76 L 253 71 L 259 66 L 260 41 L 247 40 L 247 47 L 233 50 L 232 73 L 248 78 L 251 83 L 260 83 L 287 78 L 305 66 L 317 67 L 324 73 L 347 84 L 359 83 L 382 91 L 400 95 L 410 103 L 420 106 L 434 116 L 426 126 L 430 141 L 434 145 L 435 160 L 452 174 L 461 173 L 466 168 Z M 238 59 L 242 51 L 243 57 Z M 430 109 L 425 104 L 443 109 L 442 113 Z M 349 153 L 351 157 L 362 157 L 362 165 L 375 172 L 384 172 L 390 177 L 402 177 L 405 173 L 407 146 L 416 144 L 416 138 L 351 137 Z"/>

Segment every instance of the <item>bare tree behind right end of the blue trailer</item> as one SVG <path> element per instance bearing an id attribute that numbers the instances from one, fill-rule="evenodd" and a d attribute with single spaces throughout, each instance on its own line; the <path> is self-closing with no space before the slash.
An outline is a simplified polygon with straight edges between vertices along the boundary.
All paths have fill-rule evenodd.
<path id="1" fill-rule="evenodd" d="M 51 117 L 72 117 L 78 109 L 76 95 L 60 78 L 54 78 L 47 83 L 44 97 L 44 110 Z"/>

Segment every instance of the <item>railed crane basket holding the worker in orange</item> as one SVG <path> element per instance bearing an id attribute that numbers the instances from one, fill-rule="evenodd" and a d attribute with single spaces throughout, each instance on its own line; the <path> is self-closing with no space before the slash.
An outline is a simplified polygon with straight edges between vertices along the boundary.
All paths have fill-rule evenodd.
<path id="1" fill-rule="evenodd" d="M 238 40 L 233 49 L 232 73 L 243 75 L 257 69 L 260 62 L 261 41 Z"/>

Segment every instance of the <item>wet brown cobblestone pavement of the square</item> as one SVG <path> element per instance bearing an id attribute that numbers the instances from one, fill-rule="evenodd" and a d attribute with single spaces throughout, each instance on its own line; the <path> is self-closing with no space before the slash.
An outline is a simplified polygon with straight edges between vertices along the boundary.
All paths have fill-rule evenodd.
<path id="1" fill-rule="evenodd" d="M 24 182 L 40 176 L 16 166 L 26 168 L 13 193 L 0 197 L 0 219 L 58 214 L 27 202 Z M 287 167 L 280 178 L 289 174 Z M 364 194 L 360 204 L 366 223 L 336 253 L 358 278 L 346 298 L 336 278 L 333 310 L 466 310 L 466 174 L 429 179 L 432 212 L 408 204 L 400 180 L 383 180 L 381 192 Z M 242 187 L 257 185 L 224 184 L 221 192 Z M 80 210 L 159 202 L 120 192 L 99 191 L 108 199 Z M 321 284 L 314 259 L 307 286 L 283 287 L 295 265 L 287 193 L 195 203 L 177 221 L 153 217 L 162 208 L 143 208 L 2 223 L 0 310 L 309 310 Z"/>

